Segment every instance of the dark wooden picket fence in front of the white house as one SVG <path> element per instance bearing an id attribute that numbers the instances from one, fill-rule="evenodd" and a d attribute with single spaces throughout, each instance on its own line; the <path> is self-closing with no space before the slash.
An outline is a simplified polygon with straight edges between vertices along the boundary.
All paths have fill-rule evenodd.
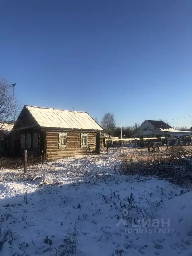
<path id="1" fill-rule="evenodd" d="M 133 140 L 132 143 L 127 141 L 108 141 L 108 147 L 129 147 L 129 148 L 148 148 L 152 146 L 154 147 L 167 147 L 167 146 L 192 146 L 192 138 L 167 138 L 167 139 L 148 139 L 148 140 Z"/>

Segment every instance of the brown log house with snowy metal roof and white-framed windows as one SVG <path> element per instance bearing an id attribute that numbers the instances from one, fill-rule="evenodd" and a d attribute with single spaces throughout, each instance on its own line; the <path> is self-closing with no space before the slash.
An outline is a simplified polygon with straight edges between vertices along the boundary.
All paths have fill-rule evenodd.
<path id="1" fill-rule="evenodd" d="M 87 113 L 24 106 L 13 133 L 12 154 L 30 154 L 57 159 L 86 155 L 98 150 L 101 126 Z"/>

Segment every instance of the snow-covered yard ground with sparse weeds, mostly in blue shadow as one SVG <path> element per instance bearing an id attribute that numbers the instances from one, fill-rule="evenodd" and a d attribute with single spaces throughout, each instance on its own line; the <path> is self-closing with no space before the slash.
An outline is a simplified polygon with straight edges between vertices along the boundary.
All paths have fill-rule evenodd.
<path id="1" fill-rule="evenodd" d="M 114 150 L 1 170 L 0 255 L 192 256 L 192 192 L 118 168 Z"/>

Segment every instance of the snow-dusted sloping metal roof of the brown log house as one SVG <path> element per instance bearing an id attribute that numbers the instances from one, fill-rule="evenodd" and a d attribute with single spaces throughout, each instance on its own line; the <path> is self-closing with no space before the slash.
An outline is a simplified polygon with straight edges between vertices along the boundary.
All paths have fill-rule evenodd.
<path id="1" fill-rule="evenodd" d="M 81 130 L 103 130 L 101 126 L 87 113 L 25 106 L 41 128 L 62 128 Z"/>

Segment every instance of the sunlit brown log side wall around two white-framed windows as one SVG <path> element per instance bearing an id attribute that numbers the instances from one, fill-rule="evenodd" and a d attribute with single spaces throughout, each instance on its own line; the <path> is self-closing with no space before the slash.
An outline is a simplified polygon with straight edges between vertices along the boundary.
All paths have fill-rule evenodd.
<path id="1" fill-rule="evenodd" d="M 64 132 L 67 132 L 67 148 L 59 148 L 59 132 L 46 131 L 45 148 L 48 160 L 74 155 L 90 155 L 96 149 L 96 132 Z M 81 147 L 81 133 L 88 134 L 88 147 Z"/>

